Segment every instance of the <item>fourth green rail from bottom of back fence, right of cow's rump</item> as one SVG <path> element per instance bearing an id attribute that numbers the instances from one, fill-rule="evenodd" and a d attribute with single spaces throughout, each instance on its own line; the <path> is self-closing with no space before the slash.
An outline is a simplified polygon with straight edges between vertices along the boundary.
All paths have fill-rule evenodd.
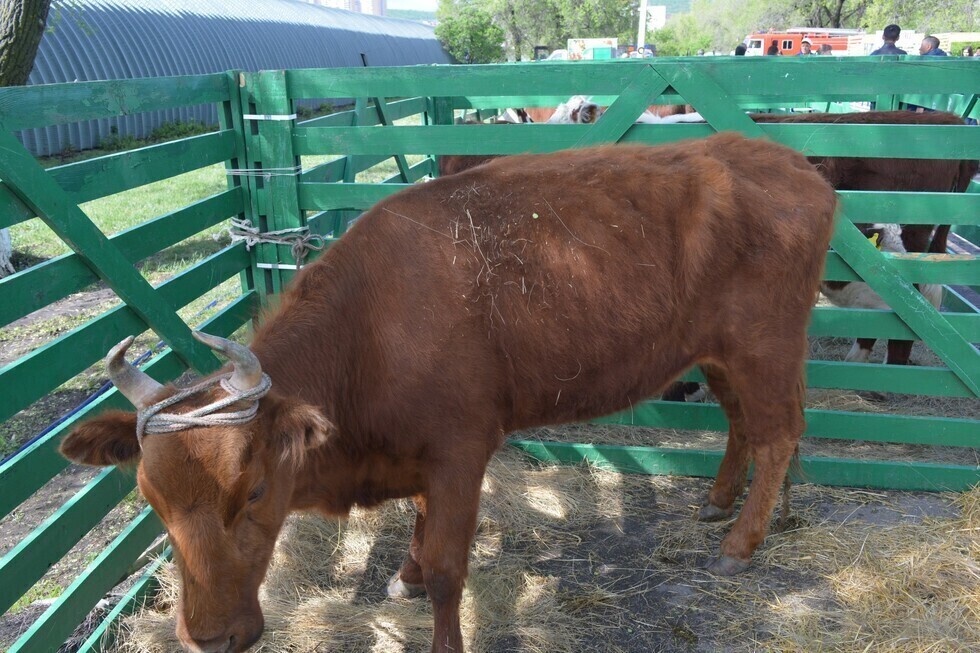
<path id="1" fill-rule="evenodd" d="M 943 313 L 943 317 L 969 342 L 980 342 L 980 314 Z M 894 312 L 864 308 L 815 308 L 808 333 L 816 337 L 917 339 Z"/>

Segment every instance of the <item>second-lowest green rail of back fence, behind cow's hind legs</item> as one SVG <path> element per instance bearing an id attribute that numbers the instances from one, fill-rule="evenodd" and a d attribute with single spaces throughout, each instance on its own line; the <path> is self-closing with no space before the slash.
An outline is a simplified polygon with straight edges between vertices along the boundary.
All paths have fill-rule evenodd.
<path id="1" fill-rule="evenodd" d="M 693 431 L 728 431 L 728 420 L 717 404 L 644 401 L 613 415 L 592 420 L 596 424 L 622 424 Z M 806 411 L 808 438 L 866 440 L 900 444 L 980 447 L 976 420 L 859 413 Z"/>

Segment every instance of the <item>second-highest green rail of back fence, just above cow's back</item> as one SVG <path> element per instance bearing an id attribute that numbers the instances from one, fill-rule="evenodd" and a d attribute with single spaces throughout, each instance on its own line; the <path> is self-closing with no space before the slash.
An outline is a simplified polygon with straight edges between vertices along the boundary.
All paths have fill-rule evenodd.
<path id="1" fill-rule="evenodd" d="M 967 125 L 842 125 L 759 123 L 772 140 L 807 156 L 968 159 L 980 151 L 980 134 Z M 591 125 L 428 125 L 297 128 L 299 155 L 522 154 L 572 148 Z M 489 131 L 493 130 L 493 131 Z M 715 133 L 704 123 L 633 125 L 619 142 L 658 144 Z"/>

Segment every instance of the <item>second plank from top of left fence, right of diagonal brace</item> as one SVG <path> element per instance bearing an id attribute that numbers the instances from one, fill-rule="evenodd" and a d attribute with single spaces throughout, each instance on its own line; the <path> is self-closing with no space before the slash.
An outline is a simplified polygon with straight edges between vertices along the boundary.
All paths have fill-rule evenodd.
<path id="1" fill-rule="evenodd" d="M 235 145 L 235 132 L 226 129 L 69 163 L 48 174 L 81 204 L 221 163 L 235 155 Z"/>

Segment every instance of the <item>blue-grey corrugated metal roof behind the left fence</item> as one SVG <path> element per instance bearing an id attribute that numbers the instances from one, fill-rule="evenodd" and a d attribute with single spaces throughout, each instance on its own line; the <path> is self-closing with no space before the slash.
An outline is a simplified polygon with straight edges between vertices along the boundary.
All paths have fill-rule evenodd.
<path id="1" fill-rule="evenodd" d="M 449 63 L 432 28 L 296 0 L 55 0 L 30 84 L 195 75 L 225 70 Z M 142 137 L 167 121 L 217 120 L 186 107 L 21 133 L 36 154 Z"/>

